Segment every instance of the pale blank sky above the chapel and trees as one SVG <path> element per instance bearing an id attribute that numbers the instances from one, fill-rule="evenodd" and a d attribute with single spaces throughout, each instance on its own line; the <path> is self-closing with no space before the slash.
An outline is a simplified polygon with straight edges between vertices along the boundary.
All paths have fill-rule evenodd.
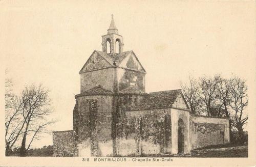
<path id="1" fill-rule="evenodd" d="M 234 74 L 254 83 L 252 1 L 0 1 L 0 8 L 0 49 L 14 91 L 40 82 L 51 90 L 52 117 L 59 119 L 53 131 L 73 129 L 78 72 L 102 50 L 111 14 L 124 51 L 133 50 L 147 72 L 146 92 L 180 89 L 189 74 Z M 52 136 L 36 142 L 52 145 Z"/>

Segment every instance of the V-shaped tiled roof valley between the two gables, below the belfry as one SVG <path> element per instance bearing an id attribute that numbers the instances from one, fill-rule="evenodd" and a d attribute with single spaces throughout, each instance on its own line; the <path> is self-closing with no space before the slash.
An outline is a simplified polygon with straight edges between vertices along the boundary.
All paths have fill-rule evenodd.
<path id="1" fill-rule="evenodd" d="M 125 51 L 122 53 L 105 53 L 99 50 L 96 50 L 96 52 L 101 55 L 102 58 L 104 58 L 106 61 L 108 61 L 111 65 L 113 65 L 114 61 L 116 63 L 116 66 L 120 65 L 120 63 L 122 62 L 122 60 L 124 58 L 127 57 L 127 55 L 129 55 L 130 52 L 132 52 L 132 50 L 130 51 Z"/>

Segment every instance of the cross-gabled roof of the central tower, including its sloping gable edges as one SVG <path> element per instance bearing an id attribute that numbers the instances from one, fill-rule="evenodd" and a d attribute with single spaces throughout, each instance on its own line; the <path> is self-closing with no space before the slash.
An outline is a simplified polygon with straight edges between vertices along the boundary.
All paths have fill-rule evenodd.
<path id="1" fill-rule="evenodd" d="M 91 57 L 93 56 L 94 53 L 97 53 L 98 55 L 100 55 L 100 57 L 102 57 L 106 62 L 109 63 L 110 67 L 120 67 L 120 64 L 122 63 L 122 61 L 129 55 L 133 54 L 135 59 L 137 60 L 137 62 L 140 64 L 141 68 L 142 68 L 142 72 L 146 73 L 145 69 L 142 67 L 141 63 L 139 62 L 138 58 L 136 57 L 135 53 L 133 52 L 133 50 L 130 51 L 125 51 L 122 53 L 105 53 L 99 50 L 94 50 L 92 55 L 90 56 L 90 58 L 87 60 L 87 62 L 91 59 Z M 87 62 L 83 65 L 82 69 L 80 70 L 80 73 L 83 73 L 84 68 L 86 68 Z"/>

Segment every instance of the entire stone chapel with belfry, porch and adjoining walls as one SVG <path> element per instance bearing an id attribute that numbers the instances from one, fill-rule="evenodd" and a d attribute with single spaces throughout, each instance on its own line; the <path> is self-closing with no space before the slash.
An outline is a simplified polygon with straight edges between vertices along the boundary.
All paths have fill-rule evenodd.
<path id="1" fill-rule="evenodd" d="M 53 132 L 54 156 L 189 154 L 229 143 L 228 119 L 190 115 L 181 90 L 145 92 L 146 71 L 123 51 L 113 15 L 101 44 L 79 71 L 73 130 Z"/>

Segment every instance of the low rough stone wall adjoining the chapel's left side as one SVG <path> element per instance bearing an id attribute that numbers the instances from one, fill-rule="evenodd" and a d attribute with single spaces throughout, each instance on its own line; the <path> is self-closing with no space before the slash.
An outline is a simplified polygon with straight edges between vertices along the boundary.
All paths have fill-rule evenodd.
<path id="1" fill-rule="evenodd" d="M 74 131 L 53 132 L 53 156 L 71 157 L 74 156 Z"/>

